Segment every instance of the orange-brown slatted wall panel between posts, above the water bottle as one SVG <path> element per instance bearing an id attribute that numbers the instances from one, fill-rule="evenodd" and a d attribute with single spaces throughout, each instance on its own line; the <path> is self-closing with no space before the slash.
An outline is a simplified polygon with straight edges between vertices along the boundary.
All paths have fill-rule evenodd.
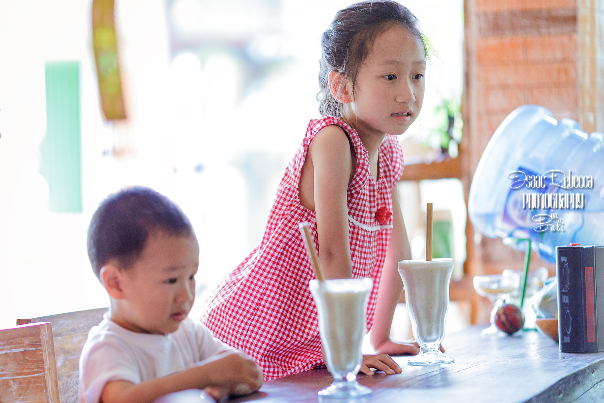
<path id="1" fill-rule="evenodd" d="M 579 117 L 576 0 L 476 0 L 472 121 L 481 146 L 520 105 Z"/>

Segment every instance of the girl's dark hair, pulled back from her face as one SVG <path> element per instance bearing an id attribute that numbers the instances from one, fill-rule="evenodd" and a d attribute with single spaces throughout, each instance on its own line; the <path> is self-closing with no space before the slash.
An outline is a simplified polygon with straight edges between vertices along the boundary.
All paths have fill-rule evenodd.
<path id="1" fill-rule="evenodd" d="M 426 58 L 429 44 L 419 28 L 416 16 L 396 1 L 362 1 L 338 11 L 332 24 L 321 37 L 319 61 L 319 112 L 322 116 L 339 117 L 342 104 L 329 89 L 329 72 L 338 71 L 352 82 L 371 51 L 373 40 L 387 28 L 399 25 L 410 31 L 423 44 Z"/>

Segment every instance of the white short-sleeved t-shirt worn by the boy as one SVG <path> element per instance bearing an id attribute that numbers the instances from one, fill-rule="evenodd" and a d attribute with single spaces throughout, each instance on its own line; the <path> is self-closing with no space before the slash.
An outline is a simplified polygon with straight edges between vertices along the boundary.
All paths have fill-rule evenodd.
<path id="1" fill-rule="evenodd" d="M 176 332 L 156 335 L 126 330 L 107 312 L 88 332 L 80 355 L 80 403 L 98 403 L 107 382 L 140 384 L 204 364 L 226 351 L 236 350 L 190 318 Z"/>

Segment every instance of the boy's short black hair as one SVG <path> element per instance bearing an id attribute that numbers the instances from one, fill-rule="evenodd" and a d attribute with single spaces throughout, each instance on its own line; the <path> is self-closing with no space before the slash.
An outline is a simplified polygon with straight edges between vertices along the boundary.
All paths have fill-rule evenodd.
<path id="1" fill-rule="evenodd" d="M 130 187 L 107 196 L 92 214 L 88 226 L 88 257 L 99 277 L 109 260 L 131 267 L 154 231 L 188 236 L 193 227 L 187 216 L 166 196 L 149 187 Z"/>

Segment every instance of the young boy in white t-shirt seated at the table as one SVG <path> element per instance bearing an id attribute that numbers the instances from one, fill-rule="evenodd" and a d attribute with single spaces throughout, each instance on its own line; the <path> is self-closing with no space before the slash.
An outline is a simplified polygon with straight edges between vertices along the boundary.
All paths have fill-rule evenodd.
<path id="1" fill-rule="evenodd" d="M 88 228 L 88 256 L 111 307 L 80 356 L 80 402 L 152 402 L 190 388 L 251 393 L 262 371 L 187 318 L 199 245 L 170 199 L 145 187 L 109 195 Z"/>

